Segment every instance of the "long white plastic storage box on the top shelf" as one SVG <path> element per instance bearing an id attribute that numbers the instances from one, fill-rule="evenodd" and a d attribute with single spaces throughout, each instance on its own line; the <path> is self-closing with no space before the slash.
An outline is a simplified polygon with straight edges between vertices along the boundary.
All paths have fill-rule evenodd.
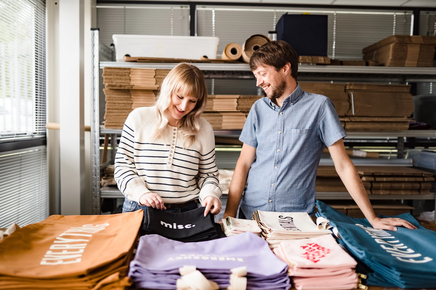
<path id="1" fill-rule="evenodd" d="M 112 35 L 116 61 L 131 57 L 165 57 L 199 60 L 217 58 L 219 37 L 166 35 Z"/>

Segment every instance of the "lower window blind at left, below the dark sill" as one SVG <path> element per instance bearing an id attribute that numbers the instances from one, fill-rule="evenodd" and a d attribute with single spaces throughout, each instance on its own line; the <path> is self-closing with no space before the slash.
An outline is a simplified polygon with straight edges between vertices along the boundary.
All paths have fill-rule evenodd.
<path id="1" fill-rule="evenodd" d="M 0 153 L 0 228 L 48 217 L 45 146 Z"/>

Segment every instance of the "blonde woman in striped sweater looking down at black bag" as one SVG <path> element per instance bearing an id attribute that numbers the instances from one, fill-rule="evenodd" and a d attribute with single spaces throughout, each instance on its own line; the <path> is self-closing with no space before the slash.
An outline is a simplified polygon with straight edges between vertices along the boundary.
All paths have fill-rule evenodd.
<path id="1" fill-rule="evenodd" d="M 156 105 L 129 114 L 114 173 L 126 197 L 123 213 L 147 207 L 181 213 L 197 208 L 197 199 L 204 216 L 220 212 L 215 137 L 200 117 L 207 98 L 201 71 L 180 63 L 162 82 Z"/>

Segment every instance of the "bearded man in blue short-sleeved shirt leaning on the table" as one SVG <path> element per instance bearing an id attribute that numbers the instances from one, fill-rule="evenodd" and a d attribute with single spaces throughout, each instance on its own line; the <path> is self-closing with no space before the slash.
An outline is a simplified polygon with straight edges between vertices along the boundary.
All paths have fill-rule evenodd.
<path id="1" fill-rule="evenodd" d="M 351 197 L 376 229 L 416 228 L 399 218 L 377 217 L 357 170 L 345 152 L 347 136 L 325 96 L 296 82 L 298 57 L 285 41 L 253 53 L 250 69 L 266 97 L 250 110 L 239 140 L 244 144 L 228 192 L 224 218 L 251 219 L 255 210 L 315 213 L 315 178 L 324 146 Z M 247 182 L 248 178 L 248 182 Z"/>

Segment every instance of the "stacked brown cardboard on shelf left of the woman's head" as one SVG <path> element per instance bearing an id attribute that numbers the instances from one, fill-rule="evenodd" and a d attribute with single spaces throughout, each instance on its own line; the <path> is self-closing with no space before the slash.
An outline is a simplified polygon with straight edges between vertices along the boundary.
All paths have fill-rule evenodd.
<path id="1" fill-rule="evenodd" d="M 105 67 L 106 129 L 122 129 L 129 113 L 153 106 L 155 94 L 170 70 Z"/>

